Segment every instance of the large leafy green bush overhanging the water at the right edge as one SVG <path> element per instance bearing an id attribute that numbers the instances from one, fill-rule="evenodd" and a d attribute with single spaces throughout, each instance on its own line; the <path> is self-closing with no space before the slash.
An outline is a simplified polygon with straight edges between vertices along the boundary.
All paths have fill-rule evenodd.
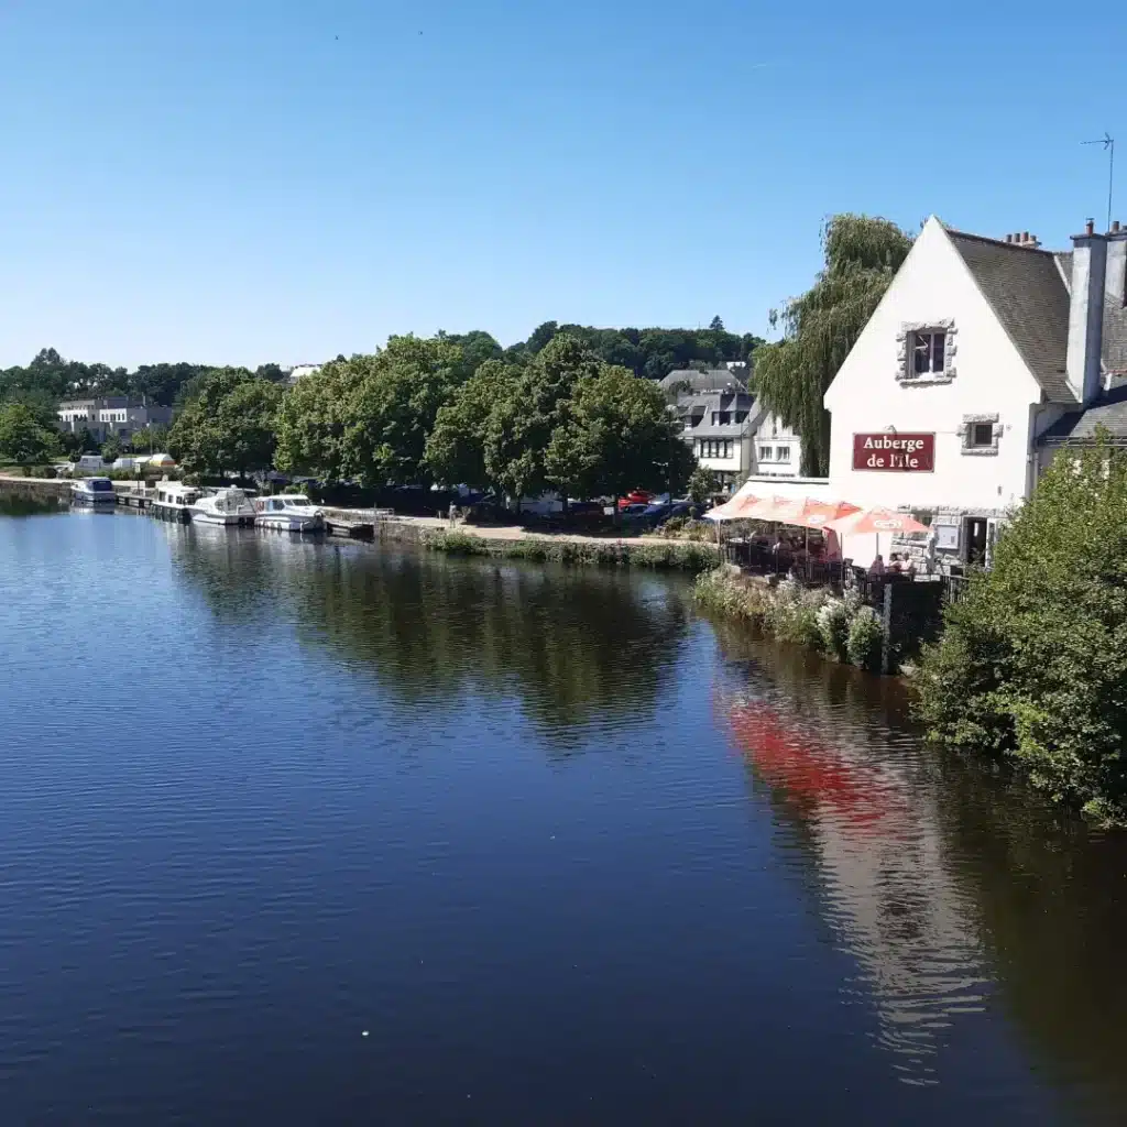
<path id="1" fill-rule="evenodd" d="M 948 609 L 920 711 L 1054 800 L 1127 818 L 1127 454 L 1066 449 Z"/>

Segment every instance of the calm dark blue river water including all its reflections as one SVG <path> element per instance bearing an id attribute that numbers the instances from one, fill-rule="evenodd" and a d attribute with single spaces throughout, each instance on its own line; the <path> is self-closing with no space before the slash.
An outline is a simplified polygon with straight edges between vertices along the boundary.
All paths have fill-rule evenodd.
<path id="1" fill-rule="evenodd" d="M 1124 842 L 686 592 L 0 516 L 0 1122 L 1125 1121 Z"/>

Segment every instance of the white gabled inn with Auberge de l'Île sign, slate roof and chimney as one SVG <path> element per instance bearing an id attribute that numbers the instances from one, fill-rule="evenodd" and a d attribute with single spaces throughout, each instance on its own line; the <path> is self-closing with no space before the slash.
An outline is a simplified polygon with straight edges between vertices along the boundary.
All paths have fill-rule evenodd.
<path id="1" fill-rule="evenodd" d="M 986 553 L 1055 445 L 1098 417 L 1127 444 L 1125 270 L 1118 224 L 1053 252 L 929 219 L 826 391 L 829 494 L 911 508 L 941 550 Z"/>

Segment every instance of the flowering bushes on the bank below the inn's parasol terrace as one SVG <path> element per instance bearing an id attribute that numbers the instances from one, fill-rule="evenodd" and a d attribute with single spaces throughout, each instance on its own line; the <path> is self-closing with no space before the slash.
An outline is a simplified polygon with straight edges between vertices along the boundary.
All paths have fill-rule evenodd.
<path id="1" fill-rule="evenodd" d="M 719 567 L 698 576 L 695 597 L 706 610 L 754 625 L 779 641 L 871 673 L 880 671 L 884 625 L 857 595 L 837 598 L 827 587 L 809 591 L 792 579 L 773 587 L 748 583 Z"/>

